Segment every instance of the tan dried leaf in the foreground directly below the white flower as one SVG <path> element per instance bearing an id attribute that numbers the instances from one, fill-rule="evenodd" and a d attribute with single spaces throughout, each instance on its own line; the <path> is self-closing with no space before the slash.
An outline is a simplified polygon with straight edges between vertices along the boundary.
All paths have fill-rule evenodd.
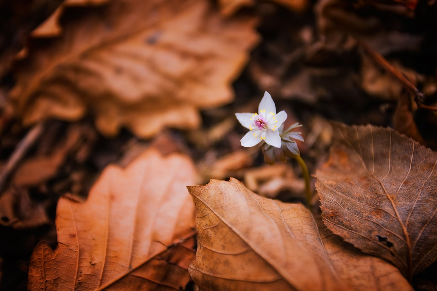
<path id="1" fill-rule="evenodd" d="M 319 228 L 301 204 L 252 193 L 234 178 L 189 186 L 201 290 L 412 290 L 390 263 Z"/>

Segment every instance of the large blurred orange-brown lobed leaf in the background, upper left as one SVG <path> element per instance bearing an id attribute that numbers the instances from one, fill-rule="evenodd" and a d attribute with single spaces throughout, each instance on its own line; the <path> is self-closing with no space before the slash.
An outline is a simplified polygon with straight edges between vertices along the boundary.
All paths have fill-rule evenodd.
<path id="1" fill-rule="evenodd" d="M 62 35 L 33 39 L 17 63 L 11 108 L 25 124 L 92 113 L 105 135 L 198 126 L 200 108 L 232 100 L 230 83 L 258 40 L 254 17 L 225 19 L 212 6 L 112 0 L 66 9 Z"/>

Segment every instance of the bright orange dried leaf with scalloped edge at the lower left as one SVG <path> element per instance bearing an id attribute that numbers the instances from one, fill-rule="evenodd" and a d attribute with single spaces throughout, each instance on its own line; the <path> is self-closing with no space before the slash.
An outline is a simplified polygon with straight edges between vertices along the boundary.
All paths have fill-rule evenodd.
<path id="1" fill-rule="evenodd" d="M 185 189 L 194 177 L 186 156 L 146 150 L 125 169 L 105 168 L 84 204 L 62 197 L 58 246 L 35 247 L 28 290 L 183 289 L 194 251 L 164 252 L 194 233 Z"/>

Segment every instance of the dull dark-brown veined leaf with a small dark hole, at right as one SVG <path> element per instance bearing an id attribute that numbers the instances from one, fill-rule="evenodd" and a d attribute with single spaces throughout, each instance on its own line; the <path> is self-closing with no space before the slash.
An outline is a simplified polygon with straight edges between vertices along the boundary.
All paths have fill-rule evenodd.
<path id="1" fill-rule="evenodd" d="M 392 129 L 334 128 L 316 175 L 323 222 L 411 278 L 437 257 L 437 154 Z"/>

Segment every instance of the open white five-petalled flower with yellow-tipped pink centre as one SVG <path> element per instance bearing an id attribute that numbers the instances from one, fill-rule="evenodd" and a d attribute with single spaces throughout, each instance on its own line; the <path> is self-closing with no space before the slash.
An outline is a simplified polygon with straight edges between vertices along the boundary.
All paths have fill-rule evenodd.
<path id="1" fill-rule="evenodd" d="M 287 119 L 287 113 L 281 111 L 276 114 L 275 102 L 269 92 L 259 102 L 258 113 L 235 113 L 242 126 L 249 129 L 241 139 L 241 146 L 255 146 L 265 141 L 270 146 L 281 147 L 279 127 Z"/>

